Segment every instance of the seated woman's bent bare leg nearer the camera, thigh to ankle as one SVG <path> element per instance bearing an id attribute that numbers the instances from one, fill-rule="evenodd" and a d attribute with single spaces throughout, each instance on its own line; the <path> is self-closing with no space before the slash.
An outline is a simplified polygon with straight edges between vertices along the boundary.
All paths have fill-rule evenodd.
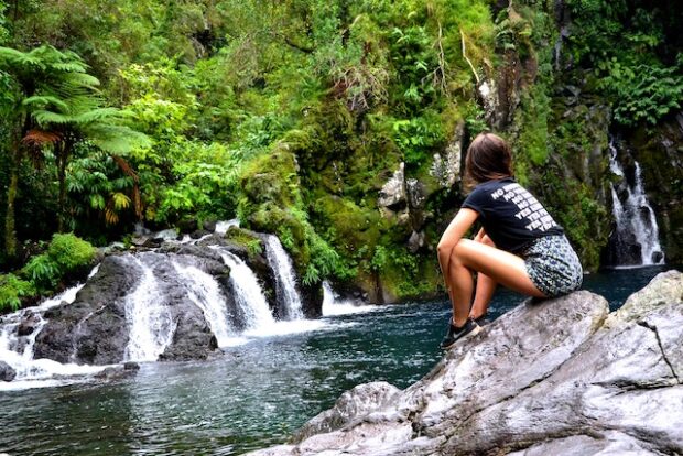
<path id="1" fill-rule="evenodd" d="M 513 291 L 530 296 L 544 297 L 543 293 L 529 279 L 524 260 L 520 257 L 481 242 L 462 239 L 451 252 L 448 270 L 449 283 L 453 289 L 453 321 L 456 326 L 464 325 L 469 315 L 469 303 L 474 287 L 471 271 L 477 271 L 488 276 L 490 281 L 501 283 Z M 485 283 L 483 286 L 488 285 Z M 490 289 L 488 286 L 488 290 L 485 291 L 490 293 Z M 485 297 L 483 294 L 483 302 Z"/>

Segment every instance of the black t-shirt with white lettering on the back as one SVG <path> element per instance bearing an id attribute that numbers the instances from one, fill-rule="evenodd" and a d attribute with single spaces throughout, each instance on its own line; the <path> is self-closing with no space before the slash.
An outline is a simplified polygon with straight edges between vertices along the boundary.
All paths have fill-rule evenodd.
<path id="1" fill-rule="evenodd" d="M 512 177 L 477 185 L 463 207 L 479 213 L 484 230 L 496 247 L 510 252 L 543 236 L 564 232 L 541 203 Z"/>

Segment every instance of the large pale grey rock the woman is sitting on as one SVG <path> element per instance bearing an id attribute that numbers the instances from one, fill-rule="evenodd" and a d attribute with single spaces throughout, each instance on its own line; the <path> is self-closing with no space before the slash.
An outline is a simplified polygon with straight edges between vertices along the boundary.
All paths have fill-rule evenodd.
<path id="1" fill-rule="evenodd" d="M 412 387 L 356 387 L 281 455 L 683 454 L 683 273 L 609 313 L 587 291 L 528 301 Z"/>

